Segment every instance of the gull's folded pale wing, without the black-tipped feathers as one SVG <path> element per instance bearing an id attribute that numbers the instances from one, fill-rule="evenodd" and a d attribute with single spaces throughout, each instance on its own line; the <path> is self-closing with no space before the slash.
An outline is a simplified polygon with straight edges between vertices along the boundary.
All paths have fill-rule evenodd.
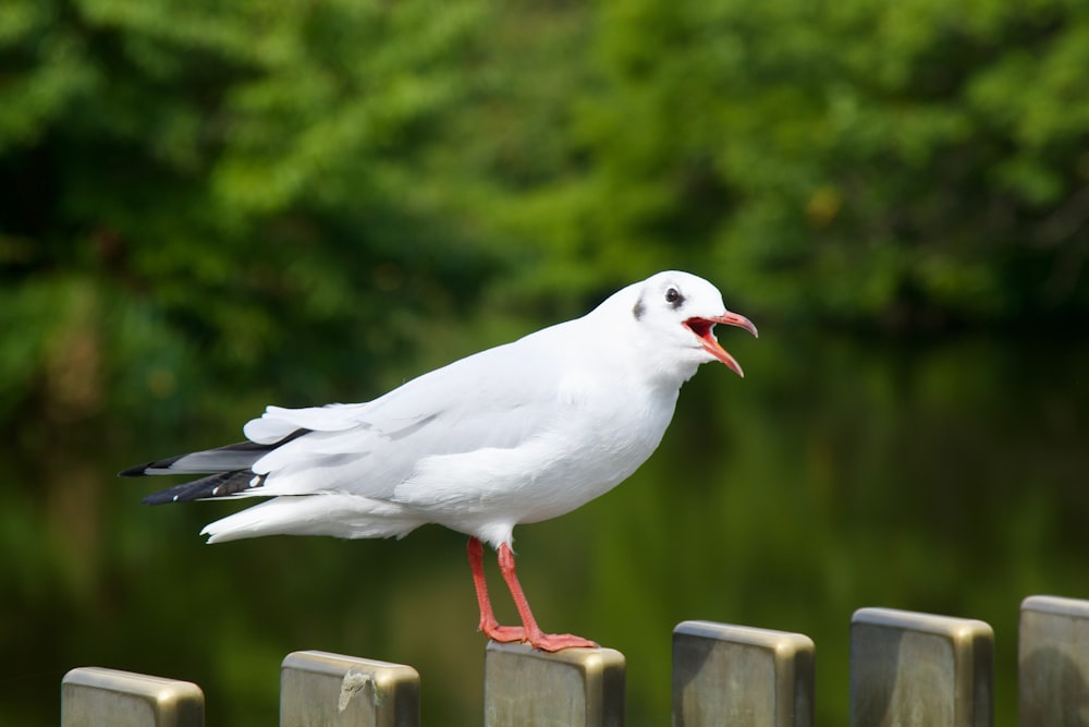
<path id="1" fill-rule="evenodd" d="M 428 458 L 517 448 L 552 425 L 561 356 L 535 335 L 456 361 L 367 403 L 270 407 L 246 425 L 254 441 L 309 432 L 254 463 L 264 482 L 253 494 L 388 499 Z"/>

